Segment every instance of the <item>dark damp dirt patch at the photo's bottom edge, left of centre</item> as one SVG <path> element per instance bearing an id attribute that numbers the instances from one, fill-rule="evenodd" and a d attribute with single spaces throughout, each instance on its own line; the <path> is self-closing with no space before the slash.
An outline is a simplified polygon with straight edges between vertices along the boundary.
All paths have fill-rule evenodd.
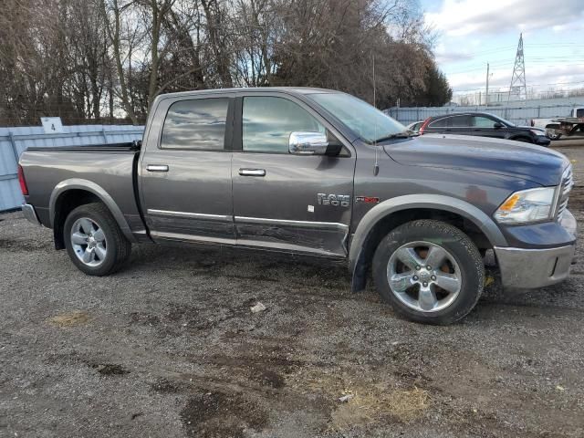
<path id="1" fill-rule="evenodd" d="M 240 438 L 245 430 L 261 432 L 266 412 L 241 394 L 205 392 L 191 397 L 181 411 L 187 436 L 196 438 Z"/>

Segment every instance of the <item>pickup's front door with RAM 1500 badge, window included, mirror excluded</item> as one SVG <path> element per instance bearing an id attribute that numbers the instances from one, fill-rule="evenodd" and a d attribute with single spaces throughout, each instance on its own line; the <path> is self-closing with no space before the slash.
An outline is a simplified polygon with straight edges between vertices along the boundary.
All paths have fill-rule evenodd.
<path id="1" fill-rule="evenodd" d="M 237 244 L 345 256 L 355 152 L 295 155 L 291 132 L 338 131 L 300 99 L 242 93 L 235 106 L 232 178 Z"/>

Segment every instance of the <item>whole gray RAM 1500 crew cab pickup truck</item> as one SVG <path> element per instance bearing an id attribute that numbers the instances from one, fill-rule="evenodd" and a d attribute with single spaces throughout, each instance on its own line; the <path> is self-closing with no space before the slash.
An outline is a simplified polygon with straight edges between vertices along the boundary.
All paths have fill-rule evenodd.
<path id="1" fill-rule="evenodd" d="M 168 94 L 134 144 L 28 149 L 23 211 L 88 275 L 132 243 L 179 241 L 315 255 L 370 271 L 415 321 L 474 308 L 494 250 L 504 287 L 568 277 L 576 221 L 558 152 L 476 137 L 415 136 L 327 89 Z"/>

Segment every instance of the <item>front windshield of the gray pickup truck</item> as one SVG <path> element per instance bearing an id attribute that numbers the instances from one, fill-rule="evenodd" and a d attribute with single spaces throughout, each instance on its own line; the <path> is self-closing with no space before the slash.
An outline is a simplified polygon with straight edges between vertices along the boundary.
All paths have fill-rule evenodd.
<path id="1" fill-rule="evenodd" d="M 399 121 L 349 94 L 318 93 L 310 94 L 309 97 L 368 143 L 381 141 L 407 130 Z"/>

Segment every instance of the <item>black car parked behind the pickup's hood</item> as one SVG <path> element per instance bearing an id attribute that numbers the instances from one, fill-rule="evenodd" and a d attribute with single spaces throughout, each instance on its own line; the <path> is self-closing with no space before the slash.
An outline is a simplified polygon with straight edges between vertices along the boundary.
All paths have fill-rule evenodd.
<path id="1" fill-rule="evenodd" d="M 478 135 L 495 139 L 524 141 L 540 146 L 549 146 L 550 143 L 545 130 L 516 126 L 510 121 L 486 112 L 464 112 L 431 117 L 424 120 L 420 133 Z"/>

